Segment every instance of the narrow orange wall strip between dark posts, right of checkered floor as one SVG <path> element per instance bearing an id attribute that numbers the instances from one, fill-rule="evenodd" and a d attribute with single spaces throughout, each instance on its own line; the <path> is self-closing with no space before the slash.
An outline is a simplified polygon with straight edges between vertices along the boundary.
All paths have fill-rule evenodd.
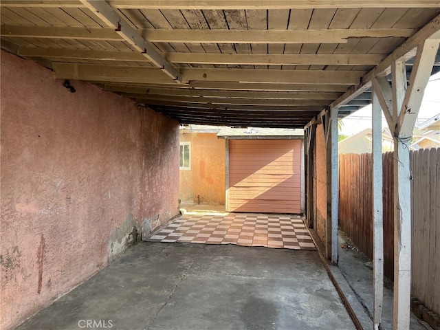
<path id="1" fill-rule="evenodd" d="M 316 233 L 325 243 L 327 232 L 327 158 L 324 126 L 316 127 Z"/>

